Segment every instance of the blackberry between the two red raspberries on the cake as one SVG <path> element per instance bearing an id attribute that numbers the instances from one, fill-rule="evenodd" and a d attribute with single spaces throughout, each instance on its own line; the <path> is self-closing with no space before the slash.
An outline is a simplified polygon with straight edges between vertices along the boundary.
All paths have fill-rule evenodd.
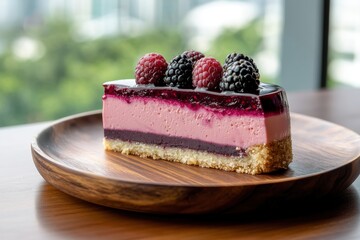
<path id="1" fill-rule="evenodd" d="M 169 63 L 164 82 L 170 87 L 192 88 L 192 62 L 185 55 L 178 55 Z"/>

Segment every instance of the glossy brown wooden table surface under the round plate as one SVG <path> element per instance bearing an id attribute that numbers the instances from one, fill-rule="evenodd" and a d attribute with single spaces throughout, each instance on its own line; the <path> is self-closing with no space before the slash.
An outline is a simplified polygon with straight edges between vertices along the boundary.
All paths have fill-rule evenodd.
<path id="1" fill-rule="evenodd" d="M 288 99 L 292 112 L 360 133 L 360 89 Z M 336 196 L 234 216 L 156 216 L 78 200 L 47 184 L 33 164 L 30 143 L 47 124 L 0 128 L 0 239 L 360 239 L 359 178 Z"/>

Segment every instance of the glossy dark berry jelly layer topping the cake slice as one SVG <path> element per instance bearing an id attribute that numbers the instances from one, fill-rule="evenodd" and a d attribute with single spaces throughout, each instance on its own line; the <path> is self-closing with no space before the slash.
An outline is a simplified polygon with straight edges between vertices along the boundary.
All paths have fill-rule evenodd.
<path id="1" fill-rule="evenodd" d="M 121 81 L 120 81 L 121 82 Z M 113 95 L 124 99 L 132 97 L 158 98 L 197 106 L 218 109 L 244 110 L 248 113 L 272 115 L 288 110 L 285 91 L 273 84 L 260 84 L 259 94 L 212 92 L 193 89 L 153 86 L 125 86 L 114 82 L 104 84 L 105 96 Z"/>

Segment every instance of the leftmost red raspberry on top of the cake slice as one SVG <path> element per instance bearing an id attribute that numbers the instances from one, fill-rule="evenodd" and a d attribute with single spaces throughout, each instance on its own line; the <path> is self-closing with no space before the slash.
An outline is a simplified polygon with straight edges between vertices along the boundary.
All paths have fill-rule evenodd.
<path id="1" fill-rule="evenodd" d="M 163 77 L 167 62 L 158 53 L 148 53 L 140 58 L 135 68 L 135 81 L 137 84 L 163 85 Z"/>

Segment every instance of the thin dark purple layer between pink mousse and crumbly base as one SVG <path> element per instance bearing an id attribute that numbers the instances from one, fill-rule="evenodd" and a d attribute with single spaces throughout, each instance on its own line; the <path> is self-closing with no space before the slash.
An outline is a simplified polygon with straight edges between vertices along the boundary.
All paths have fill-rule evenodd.
<path id="1" fill-rule="evenodd" d="M 141 142 L 164 147 L 188 148 L 193 150 L 207 151 L 226 156 L 245 156 L 244 149 L 237 149 L 234 146 L 214 144 L 195 139 L 170 137 L 165 135 L 143 133 L 128 130 L 104 129 L 104 136 L 107 139 L 119 139 L 129 142 Z"/>

